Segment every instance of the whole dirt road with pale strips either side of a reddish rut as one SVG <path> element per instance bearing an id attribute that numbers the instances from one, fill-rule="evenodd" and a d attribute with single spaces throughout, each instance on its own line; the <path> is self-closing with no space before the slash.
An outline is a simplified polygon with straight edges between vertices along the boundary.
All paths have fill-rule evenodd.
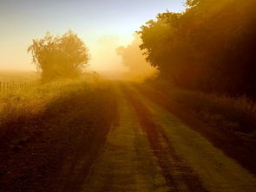
<path id="1" fill-rule="evenodd" d="M 255 191 L 256 178 L 129 83 L 82 191 Z"/>

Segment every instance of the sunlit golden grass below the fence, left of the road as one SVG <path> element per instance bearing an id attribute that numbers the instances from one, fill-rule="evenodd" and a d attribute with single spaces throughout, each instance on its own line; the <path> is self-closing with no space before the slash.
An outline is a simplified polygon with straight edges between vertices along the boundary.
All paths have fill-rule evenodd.
<path id="1" fill-rule="evenodd" d="M 0 121 L 25 118 L 43 109 L 52 99 L 84 86 L 81 82 L 66 81 L 39 85 L 0 95 Z"/>

